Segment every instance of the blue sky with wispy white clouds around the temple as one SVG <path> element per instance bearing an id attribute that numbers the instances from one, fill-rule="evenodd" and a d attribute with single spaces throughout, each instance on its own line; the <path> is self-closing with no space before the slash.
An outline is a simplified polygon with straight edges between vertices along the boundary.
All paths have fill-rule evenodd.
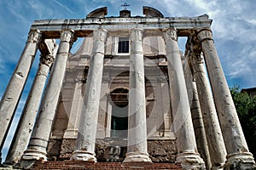
<path id="1" fill-rule="evenodd" d="M 104 6 L 108 7 L 108 16 L 118 16 L 120 5 L 125 2 L 130 4 L 131 15 L 143 15 L 143 6 L 157 8 L 166 17 L 208 14 L 213 20 L 213 37 L 229 86 L 256 87 L 254 0 L 0 0 L 0 98 L 20 58 L 33 20 L 82 19 L 90 11 Z M 37 66 L 38 59 L 32 71 Z M 26 101 L 32 77 L 34 73 L 26 83 L 15 122 Z M 9 143 L 10 138 L 4 146 L 3 157 Z"/>

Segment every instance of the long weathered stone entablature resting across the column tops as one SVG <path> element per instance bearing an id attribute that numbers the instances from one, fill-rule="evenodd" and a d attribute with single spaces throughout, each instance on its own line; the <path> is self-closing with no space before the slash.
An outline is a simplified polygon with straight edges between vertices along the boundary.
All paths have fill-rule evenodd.
<path id="1" fill-rule="evenodd" d="M 35 20 L 31 26 L 32 30 L 39 30 L 45 38 L 59 38 L 61 30 L 71 29 L 75 31 L 77 37 L 86 37 L 97 29 L 108 31 L 127 30 L 131 28 L 142 28 L 145 31 L 154 32 L 167 28 L 176 28 L 177 36 L 189 36 L 201 28 L 210 28 L 212 20 L 207 14 L 198 17 L 108 17 L 108 18 L 87 18 L 69 20 Z"/>

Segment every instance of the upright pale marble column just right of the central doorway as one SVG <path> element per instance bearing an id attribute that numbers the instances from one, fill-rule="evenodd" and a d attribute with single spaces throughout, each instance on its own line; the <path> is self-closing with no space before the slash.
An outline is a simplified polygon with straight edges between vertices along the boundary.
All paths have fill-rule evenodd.
<path id="1" fill-rule="evenodd" d="M 128 146 L 124 162 L 149 161 L 147 145 L 146 99 L 143 61 L 143 30 L 130 31 L 130 89 Z"/>

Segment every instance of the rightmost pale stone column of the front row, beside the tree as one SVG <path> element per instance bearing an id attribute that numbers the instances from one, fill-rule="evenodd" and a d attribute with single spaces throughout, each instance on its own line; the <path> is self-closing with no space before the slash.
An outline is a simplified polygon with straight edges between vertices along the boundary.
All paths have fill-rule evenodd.
<path id="1" fill-rule="evenodd" d="M 212 31 L 202 29 L 198 32 L 197 37 L 201 41 L 201 48 L 205 56 L 207 71 L 212 85 L 212 94 L 218 111 L 218 120 L 228 154 L 224 168 L 253 168 L 253 155 L 248 150 L 247 142 L 241 130 L 241 124 L 230 94 L 230 89 L 224 77 L 224 71 L 222 70 L 214 46 Z"/>

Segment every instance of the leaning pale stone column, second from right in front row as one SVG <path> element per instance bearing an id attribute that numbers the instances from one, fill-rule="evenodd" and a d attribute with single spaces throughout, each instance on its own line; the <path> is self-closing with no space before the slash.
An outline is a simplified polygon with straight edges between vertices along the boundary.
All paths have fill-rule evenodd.
<path id="1" fill-rule="evenodd" d="M 173 127 L 177 137 L 177 162 L 183 168 L 203 168 L 204 161 L 197 153 L 195 133 L 191 119 L 189 98 L 183 74 L 182 61 L 177 46 L 176 29 L 164 31 L 166 58 L 170 79 Z"/>

